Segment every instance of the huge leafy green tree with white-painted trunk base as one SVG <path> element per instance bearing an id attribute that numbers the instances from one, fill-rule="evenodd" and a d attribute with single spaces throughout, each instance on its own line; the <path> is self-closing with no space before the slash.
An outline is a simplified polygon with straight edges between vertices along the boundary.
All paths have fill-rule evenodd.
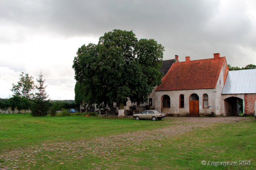
<path id="1" fill-rule="evenodd" d="M 84 104 L 111 107 L 118 104 L 124 116 L 124 102 L 144 103 L 154 86 L 161 84 L 163 46 L 154 39 L 138 39 L 132 31 L 113 30 L 78 49 L 74 58 L 75 79 Z"/>

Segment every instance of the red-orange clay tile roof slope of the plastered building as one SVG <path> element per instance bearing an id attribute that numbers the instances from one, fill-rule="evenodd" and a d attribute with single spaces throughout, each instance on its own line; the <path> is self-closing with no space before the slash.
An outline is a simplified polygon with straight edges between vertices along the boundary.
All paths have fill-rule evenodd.
<path id="1" fill-rule="evenodd" d="M 176 62 L 155 91 L 215 88 L 225 57 Z"/>

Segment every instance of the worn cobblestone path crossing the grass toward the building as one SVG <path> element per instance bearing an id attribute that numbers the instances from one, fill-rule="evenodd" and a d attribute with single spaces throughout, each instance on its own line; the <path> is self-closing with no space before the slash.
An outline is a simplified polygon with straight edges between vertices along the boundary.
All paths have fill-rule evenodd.
<path id="1" fill-rule="evenodd" d="M 120 135 L 112 135 L 100 137 L 90 141 L 77 140 L 75 142 L 57 142 L 42 143 L 39 146 L 29 148 L 15 148 L 9 152 L 0 151 L 0 170 L 19 169 L 20 162 L 28 162 L 27 168 L 37 164 L 38 154 L 43 151 L 54 151 L 55 153 L 65 153 L 65 160 L 72 161 L 75 157 L 83 157 L 83 155 L 94 155 L 112 159 L 116 156 L 117 151 L 124 150 L 145 150 L 141 146 L 143 141 L 155 140 L 172 140 L 178 138 L 187 132 L 194 131 L 197 128 L 211 127 L 218 123 L 232 124 L 238 121 L 251 121 L 247 117 L 165 117 L 163 123 L 169 124 L 164 128 L 156 128 L 154 130 L 144 130 L 136 132 L 127 132 Z M 158 143 L 161 146 L 161 142 Z M 136 148 L 136 146 L 138 146 Z M 48 155 L 46 155 L 48 156 Z M 48 157 L 51 159 L 50 157 Z M 42 159 L 42 158 L 41 158 Z M 54 160 L 59 162 L 57 160 Z M 62 163 L 62 162 L 61 162 Z M 111 166 L 110 166 L 111 167 Z M 24 168 L 24 167 L 22 167 Z"/>

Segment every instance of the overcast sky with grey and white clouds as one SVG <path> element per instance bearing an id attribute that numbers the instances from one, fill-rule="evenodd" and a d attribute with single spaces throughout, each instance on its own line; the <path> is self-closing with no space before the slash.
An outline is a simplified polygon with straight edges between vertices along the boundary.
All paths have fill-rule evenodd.
<path id="1" fill-rule="evenodd" d="M 42 70 L 52 100 L 74 100 L 76 51 L 113 29 L 155 39 L 163 59 L 256 65 L 255 0 L 0 0 L 0 98 Z"/>

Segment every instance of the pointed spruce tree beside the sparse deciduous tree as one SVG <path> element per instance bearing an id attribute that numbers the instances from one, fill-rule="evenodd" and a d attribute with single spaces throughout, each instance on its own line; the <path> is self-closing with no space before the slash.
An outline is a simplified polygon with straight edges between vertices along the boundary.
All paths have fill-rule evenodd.
<path id="1" fill-rule="evenodd" d="M 50 103 L 49 100 L 46 100 L 49 95 L 45 92 L 47 85 L 44 86 L 45 79 L 43 79 L 43 76 L 42 72 L 40 72 L 39 78 L 37 79 L 38 84 L 35 86 L 37 92 L 35 93 L 30 108 L 30 114 L 32 116 L 46 116 L 49 112 Z"/>

